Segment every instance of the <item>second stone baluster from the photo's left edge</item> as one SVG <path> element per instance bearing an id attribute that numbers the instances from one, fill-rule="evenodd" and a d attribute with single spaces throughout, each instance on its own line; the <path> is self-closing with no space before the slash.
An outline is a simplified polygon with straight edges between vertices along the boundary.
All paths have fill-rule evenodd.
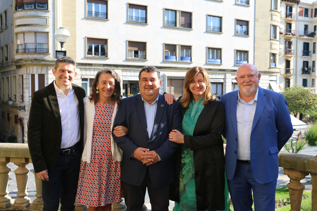
<path id="1" fill-rule="evenodd" d="M 26 187 L 30 170 L 25 166 L 29 163 L 29 158 L 11 158 L 11 162 L 18 166 L 14 171 L 17 178 L 18 198 L 11 205 L 12 209 L 26 209 L 30 207 L 30 198 L 27 197 Z"/>

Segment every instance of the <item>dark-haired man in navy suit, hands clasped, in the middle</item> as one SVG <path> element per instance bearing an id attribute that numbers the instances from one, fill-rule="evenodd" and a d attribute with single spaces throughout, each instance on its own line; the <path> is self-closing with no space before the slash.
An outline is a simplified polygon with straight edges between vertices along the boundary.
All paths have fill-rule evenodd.
<path id="1" fill-rule="evenodd" d="M 139 73 L 140 94 L 124 98 L 114 122 L 128 128 L 123 137 L 113 135 L 123 151 L 121 181 L 127 211 L 142 210 L 147 187 L 152 210 L 169 210 L 169 188 L 174 182 L 172 155 L 177 144 L 169 133 L 181 130 L 179 103 L 169 105 L 160 94 L 160 71 L 145 66 Z"/>

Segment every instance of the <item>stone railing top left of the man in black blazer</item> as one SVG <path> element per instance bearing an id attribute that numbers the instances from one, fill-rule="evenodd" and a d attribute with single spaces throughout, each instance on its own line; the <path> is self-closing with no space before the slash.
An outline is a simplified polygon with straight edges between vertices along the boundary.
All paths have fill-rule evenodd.
<path id="1" fill-rule="evenodd" d="M 0 143 L 0 157 L 31 158 L 28 144 Z"/>

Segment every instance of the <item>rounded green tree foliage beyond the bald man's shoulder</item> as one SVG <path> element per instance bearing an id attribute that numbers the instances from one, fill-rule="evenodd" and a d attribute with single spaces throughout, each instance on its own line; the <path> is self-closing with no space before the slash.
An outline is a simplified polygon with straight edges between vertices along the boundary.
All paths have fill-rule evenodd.
<path id="1" fill-rule="evenodd" d="M 317 95 L 295 84 L 282 93 L 287 100 L 287 107 L 295 117 L 297 114 L 308 114 L 317 110 Z"/>

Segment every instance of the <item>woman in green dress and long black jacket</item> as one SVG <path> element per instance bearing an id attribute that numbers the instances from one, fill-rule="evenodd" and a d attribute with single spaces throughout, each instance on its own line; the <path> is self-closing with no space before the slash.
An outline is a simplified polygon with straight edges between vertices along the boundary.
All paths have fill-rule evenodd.
<path id="1" fill-rule="evenodd" d="M 170 191 L 175 211 L 229 210 L 221 138 L 225 114 L 222 102 L 211 93 L 204 68 L 188 70 L 179 101 L 182 133 L 173 130 L 169 135 L 170 141 L 180 144 L 175 154 L 176 181 Z"/>

